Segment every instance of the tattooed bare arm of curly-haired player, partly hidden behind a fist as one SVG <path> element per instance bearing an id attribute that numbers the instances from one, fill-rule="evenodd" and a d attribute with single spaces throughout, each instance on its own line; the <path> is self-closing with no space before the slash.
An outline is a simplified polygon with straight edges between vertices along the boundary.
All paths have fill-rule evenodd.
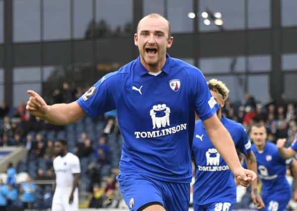
<path id="1" fill-rule="evenodd" d="M 247 163 L 248 169 L 257 173 L 257 161 L 255 158 L 254 152 L 250 151 L 245 157 L 246 157 L 246 163 Z M 257 183 L 257 180 L 255 179 L 252 182 L 251 197 L 252 197 L 253 203 L 255 205 L 255 208 L 258 210 L 261 210 L 265 207 L 265 205 L 264 205 L 264 202 L 263 202 L 260 194 L 258 193 L 257 185 L 258 185 L 258 183 Z"/>

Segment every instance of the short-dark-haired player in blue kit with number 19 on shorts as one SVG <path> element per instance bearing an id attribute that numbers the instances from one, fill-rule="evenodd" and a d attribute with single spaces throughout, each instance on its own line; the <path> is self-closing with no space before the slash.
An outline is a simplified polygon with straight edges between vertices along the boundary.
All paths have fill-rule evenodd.
<path id="1" fill-rule="evenodd" d="M 297 179 L 297 161 L 283 159 L 275 144 L 266 141 L 266 128 L 255 124 L 250 137 L 254 144 L 252 150 L 257 160 L 258 175 L 262 182 L 262 199 L 267 211 L 283 211 L 292 197 L 292 187 L 286 179 L 287 166 L 291 165 L 295 181 Z M 294 195 L 297 194 L 295 182 Z"/>

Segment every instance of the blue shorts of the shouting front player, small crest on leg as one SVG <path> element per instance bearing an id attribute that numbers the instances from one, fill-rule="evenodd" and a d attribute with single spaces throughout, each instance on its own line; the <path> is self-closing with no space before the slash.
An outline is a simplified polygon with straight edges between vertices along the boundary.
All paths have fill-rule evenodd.
<path id="1" fill-rule="evenodd" d="M 130 211 L 159 204 L 167 211 L 188 211 L 190 183 L 165 182 L 142 175 L 117 177 L 120 191 Z"/>

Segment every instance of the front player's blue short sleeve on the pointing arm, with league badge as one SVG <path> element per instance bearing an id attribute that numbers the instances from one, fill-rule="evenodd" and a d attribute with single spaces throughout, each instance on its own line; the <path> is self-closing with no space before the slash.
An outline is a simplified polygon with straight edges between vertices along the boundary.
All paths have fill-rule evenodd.
<path id="1" fill-rule="evenodd" d="M 77 100 L 77 103 L 89 117 L 95 118 L 100 114 L 115 109 L 111 89 L 115 84 L 112 78 L 116 73 L 113 72 L 103 76 Z"/>

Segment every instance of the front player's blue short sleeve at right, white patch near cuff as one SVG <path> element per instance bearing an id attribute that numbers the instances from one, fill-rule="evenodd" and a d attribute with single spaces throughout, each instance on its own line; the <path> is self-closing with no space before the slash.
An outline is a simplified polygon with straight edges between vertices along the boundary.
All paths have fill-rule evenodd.
<path id="1" fill-rule="evenodd" d="M 197 80 L 193 80 L 193 82 L 196 83 L 193 84 L 195 92 L 195 110 L 199 118 L 203 121 L 212 117 L 219 107 L 212 97 L 206 79 L 200 70 L 197 71 L 196 77 Z"/>

